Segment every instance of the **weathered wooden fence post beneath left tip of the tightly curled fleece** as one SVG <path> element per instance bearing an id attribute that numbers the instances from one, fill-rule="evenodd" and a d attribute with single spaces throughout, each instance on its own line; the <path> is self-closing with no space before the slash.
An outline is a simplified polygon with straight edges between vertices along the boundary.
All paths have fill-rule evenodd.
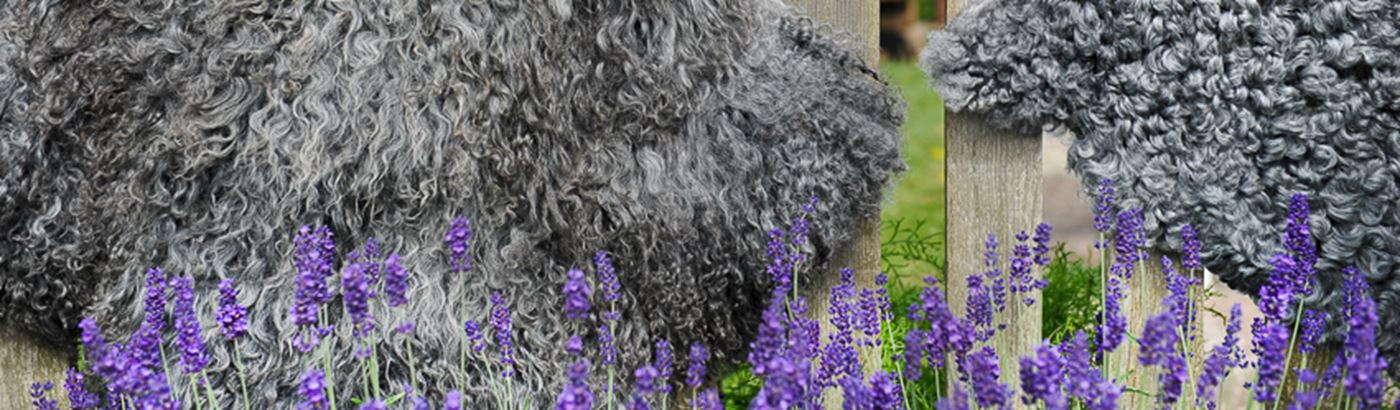
<path id="1" fill-rule="evenodd" d="M 944 15 L 979 0 L 949 0 Z M 1039 133 L 997 129 L 991 119 L 977 113 L 946 112 L 944 162 L 948 175 L 948 302 L 962 315 L 967 302 L 967 276 L 983 270 L 983 243 L 995 234 L 1005 259 L 1016 232 L 1030 232 L 1040 221 L 1042 139 Z M 1008 301 L 1011 304 L 1012 301 Z M 1016 313 L 1012 313 L 1016 312 Z M 1001 320 L 1005 318 L 1005 320 Z M 1008 308 L 998 322 L 1005 322 L 1001 355 L 1002 382 L 1019 388 L 1018 358 L 1029 355 L 1040 343 L 1040 304 Z M 951 382 L 955 376 L 948 378 Z M 1019 406 L 1019 402 L 1018 402 Z"/>

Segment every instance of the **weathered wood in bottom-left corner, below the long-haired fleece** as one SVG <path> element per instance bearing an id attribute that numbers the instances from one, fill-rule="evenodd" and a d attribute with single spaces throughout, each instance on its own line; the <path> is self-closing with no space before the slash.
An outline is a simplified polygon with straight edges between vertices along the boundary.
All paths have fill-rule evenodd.
<path id="1" fill-rule="evenodd" d="M 29 385 L 38 381 L 52 381 L 49 399 L 67 409 L 67 395 L 63 393 L 63 371 L 67 367 L 69 357 L 62 348 L 0 325 L 0 409 L 32 409 Z"/>

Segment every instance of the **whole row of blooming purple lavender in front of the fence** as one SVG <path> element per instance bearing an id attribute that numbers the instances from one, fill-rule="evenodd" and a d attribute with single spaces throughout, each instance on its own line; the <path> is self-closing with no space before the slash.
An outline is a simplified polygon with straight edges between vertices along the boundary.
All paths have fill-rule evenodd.
<path id="1" fill-rule="evenodd" d="M 1112 204 L 1112 188 L 1100 189 L 1102 204 Z M 998 241 L 988 236 L 986 243 L 986 270 L 967 280 L 969 301 L 965 316 L 955 315 L 934 277 L 925 278 L 917 302 L 909 305 L 907 319 L 913 327 L 899 329 L 890 292 L 885 288 L 889 278 L 876 277 L 878 288 L 857 288 L 854 270 L 841 270 L 840 283 L 830 290 L 827 306 L 830 329 L 822 333 L 819 323 L 811 318 L 808 302 L 795 292 L 802 283 L 797 274 L 805 271 L 806 235 L 812 207 L 792 220 L 787 229 L 770 231 L 769 253 L 773 288 L 770 304 L 763 312 L 763 320 L 755 340 L 750 343 L 748 364 L 760 381 L 760 388 L 748 406 L 750 409 L 819 409 L 826 400 L 839 400 L 843 409 L 911 409 L 937 402 L 938 409 L 1005 409 L 1014 403 L 1044 409 L 1117 409 L 1123 395 L 1148 396 L 1162 409 L 1184 409 L 1191 406 L 1217 409 L 1222 397 L 1238 393 L 1222 389 L 1222 382 L 1232 369 L 1253 365 L 1257 379 L 1250 383 L 1250 403 L 1280 406 L 1278 385 L 1295 372 L 1302 388 L 1289 397 L 1291 409 L 1310 409 L 1331 395 L 1331 386 L 1340 385 L 1344 409 L 1379 409 L 1383 406 L 1386 381 L 1382 376 L 1387 368 L 1375 347 L 1376 313 L 1375 301 L 1366 288 L 1365 277 L 1357 269 L 1347 269 L 1347 341 L 1331 369 L 1323 375 L 1309 369 L 1291 369 L 1289 354 L 1296 350 L 1308 355 L 1316 353 L 1316 343 L 1326 320 L 1322 313 L 1306 309 L 1305 297 L 1315 285 L 1316 249 L 1309 238 L 1306 197 L 1294 196 L 1289 211 L 1288 234 L 1282 238 L 1281 252 L 1275 257 L 1274 276 L 1261 291 L 1260 305 L 1264 318 L 1256 320 L 1253 351 L 1259 360 L 1243 362 L 1243 347 L 1238 337 L 1242 332 L 1240 309 L 1235 306 L 1229 315 L 1225 340 L 1215 346 L 1203 365 L 1191 368 L 1189 344 L 1196 330 L 1200 295 L 1194 280 L 1201 269 L 1200 249 L 1194 243 L 1194 228 L 1183 227 L 1183 241 L 1187 243 L 1177 273 L 1175 262 L 1162 260 L 1166 283 L 1145 284 L 1141 269 L 1148 263 L 1142 252 L 1142 238 L 1138 231 L 1141 213 L 1124 210 L 1112 213 L 1100 208 L 1099 217 L 1103 238 L 1112 236 L 1113 243 L 1100 242 L 1100 249 L 1113 248 L 1114 259 L 1100 270 L 1103 298 L 1093 318 L 1093 334 L 1075 332 L 1060 343 L 1044 340 L 1029 357 L 1012 361 L 1015 368 L 1002 368 L 998 340 L 1005 332 L 1005 318 L 1014 309 L 1029 309 L 1047 285 L 1044 276 L 1050 264 L 1050 227 L 1039 225 L 1033 234 L 1021 232 L 1005 262 L 998 252 Z M 1112 217 L 1107 217 L 1112 213 Z M 449 264 L 465 274 L 470 267 L 470 231 L 463 218 L 454 220 L 448 228 L 444 245 L 448 249 Z M 402 308 L 410 304 L 409 273 L 402 266 L 402 256 L 381 256 L 381 243 L 370 241 L 358 252 L 347 253 L 347 260 L 339 274 L 335 274 L 335 243 L 332 232 L 323 227 L 302 228 L 295 239 L 297 257 L 297 301 L 288 312 L 298 330 L 293 347 L 307 351 L 307 371 L 297 381 L 300 409 L 336 409 L 335 378 L 326 367 L 325 357 L 333 354 L 337 346 L 333 332 L 337 323 L 326 315 L 329 304 L 339 298 L 350 329 L 349 346 L 353 354 L 364 358 L 358 368 L 361 386 L 347 402 L 357 409 L 430 409 L 430 392 L 419 389 L 417 371 L 412 350 L 407 372 L 413 379 L 396 395 L 385 395 L 379 386 L 382 372 L 377 364 L 375 346 L 391 337 L 402 336 L 402 343 L 412 346 L 413 320 L 403 320 L 389 329 L 377 320 L 389 316 L 375 316 L 375 306 L 385 309 Z M 598 292 L 589 276 L 571 269 L 563 273 L 561 312 L 578 323 L 580 330 L 563 341 L 559 348 L 574 360 L 566 374 L 560 375 L 560 390 L 554 409 L 673 409 L 671 397 L 676 396 L 673 381 L 676 357 L 665 339 L 655 341 L 655 355 L 651 362 L 623 371 L 616 344 L 619 334 L 616 323 L 623 320 L 617 304 L 623 298 L 616 269 L 608 252 L 594 257 Z M 1138 274 L 1135 274 L 1138 273 Z M 214 379 L 207 378 L 209 347 L 202 339 L 195 281 L 189 277 L 167 278 L 160 269 L 148 273 L 146 320 L 127 343 L 108 341 L 95 322 L 84 320 L 83 346 L 91 374 L 106 388 L 105 400 L 90 393 L 85 374 L 70 369 L 64 388 L 74 409 L 174 409 L 182 403 L 200 407 L 217 406 Z M 328 280 L 339 278 L 333 287 Z M 1134 283 L 1134 280 L 1137 283 Z M 1130 285 L 1161 285 L 1169 295 L 1161 301 L 1156 312 L 1144 329 L 1131 333 L 1120 311 L 1123 291 Z M 165 290 L 174 294 L 174 344 L 179 353 L 167 358 L 161 330 L 165 327 Z M 218 283 L 218 304 L 214 320 L 218 333 L 232 344 L 237 358 L 238 340 L 246 334 L 249 312 L 238 302 L 237 284 L 231 280 Z M 512 376 L 517 360 L 529 357 L 518 351 L 514 337 L 514 319 L 505 291 L 490 295 L 490 316 L 484 318 L 487 327 L 473 318 L 463 318 L 462 368 L 470 358 L 473 364 L 487 369 L 487 390 L 494 396 L 498 409 L 532 407 L 517 399 Z M 599 297 L 599 299 L 594 299 Z M 594 315 L 594 308 L 602 311 Z M 1008 312 L 1008 309 L 1011 312 Z M 382 311 L 381 311 L 382 312 Z M 1134 343 L 1138 354 L 1135 362 L 1113 362 L 1109 353 L 1124 348 L 1126 341 Z M 487 348 L 496 355 L 487 357 Z M 886 351 L 896 354 L 886 355 Z M 606 378 L 592 375 L 595 353 Z M 683 385 L 690 393 L 682 404 L 689 409 L 721 409 L 721 397 L 714 388 L 706 389 L 708 351 L 701 344 L 693 344 L 686 355 L 687 367 Z M 172 390 L 165 368 L 171 361 L 179 364 L 186 376 L 181 383 L 186 389 Z M 237 371 L 238 362 L 232 364 Z M 1120 383 L 1127 374 L 1148 372 L 1155 375 L 1156 389 L 1151 392 L 1130 390 Z M 402 369 L 400 369 L 402 371 Z M 630 376 L 631 390 L 622 392 L 620 375 Z M 1009 385 L 1004 375 L 1019 375 L 1019 385 Z M 927 395 L 911 395 L 920 379 L 932 376 L 934 390 Z M 952 378 L 942 381 L 941 378 Z M 227 381 L 227 379 L 225 379 Z M 459 379 L 462 390 L 442 396 L 442 409 L 461 409 L 465 403 L 463 390 L 480 390 Z M 601 382 L 595 386 L 594 382 Z M 239 385 L 246 385 L 239 378 Z M 204 397 L 197 397 L 192 389 L 203 388 Z M 38 409 L 53 409 L 55 402 L 43 393 L 52 383 L 35 386 Z M 228 389 L 232 390 L 232 389 Z M 248 403 L 246 386 L 241 386 L 242 402 Z M 1184 403 L 1183 395 L 1194 393 L 1194 403 Z M 185 400 L 178 396 L 185 395 Z M 105 403 L 102 403 L 105 402 Z"/>

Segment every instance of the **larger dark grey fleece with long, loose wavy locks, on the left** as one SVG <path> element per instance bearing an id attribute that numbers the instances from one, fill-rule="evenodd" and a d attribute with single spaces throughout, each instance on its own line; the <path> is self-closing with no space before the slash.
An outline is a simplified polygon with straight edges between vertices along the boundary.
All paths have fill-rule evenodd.
<path id="1" fill-rule="evenodd" d="M 903 104 L 777 0 L 0 4 L 3 319 L 64 344 L 81 315 L 130 334 L 162 266 L 196 278 L 207 325 L 237 278 L 253 318 L 239 360 L 267 386 L 255 407 L 286 407 L 307 369 L 287 318 L 300 225 L 332 227 L 342 256 L 371 235 L 405 256 L 412 302 L 377 315 L 417 320 L 434 397 L 458 388 L 455 312 L 486 322 L 501 291 L 514 385 L 543 403 L 563 340 L 596 337 L 560 306 L 595 250 L 622 277 L 627 374 L 662 337 L 732 362 L 767 301 L 767 229 L 819 197 L 826 271 L 903 169 Z M 442 246 L 458 214 L 466 287 Z M 354 358 L 335 367 L 349 386 Z M 484 376 L 472 367 L 469 397 Z"/>

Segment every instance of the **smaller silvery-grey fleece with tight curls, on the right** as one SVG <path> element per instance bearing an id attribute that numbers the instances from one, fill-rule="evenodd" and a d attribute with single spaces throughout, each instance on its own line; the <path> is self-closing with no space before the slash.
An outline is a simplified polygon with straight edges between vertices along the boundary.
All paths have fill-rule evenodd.
<path id="1" fill-rule="evenodd" d="M 1380 329 L 1400 329 L 1397 22 L 1396 1 L 998 0 L 930 35 L 921 64 L 951 109 L 1072 132 L 1088 189 L 1112 178 L 1156 249 L 1180 250 L 1191 224 L 1233 288 L 1266 281 L 1288 197 L 1309 195 L 1308 304 L 1338 340 L 1352 264 Z M 1378 343 L 1400 362 L 1400 332 Z"/>

